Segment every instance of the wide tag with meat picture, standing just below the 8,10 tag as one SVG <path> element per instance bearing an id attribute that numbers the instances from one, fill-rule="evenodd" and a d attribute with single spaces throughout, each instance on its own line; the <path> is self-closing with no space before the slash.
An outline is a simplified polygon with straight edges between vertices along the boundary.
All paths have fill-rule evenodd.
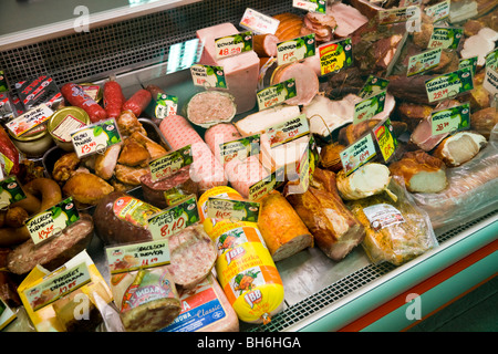
<path id="1" fill-rule="evenodd" d="M 170 263 L 167 239 L 107 247 L 105 253 L 111 274 L 132 272 L 138 269 Z"/>

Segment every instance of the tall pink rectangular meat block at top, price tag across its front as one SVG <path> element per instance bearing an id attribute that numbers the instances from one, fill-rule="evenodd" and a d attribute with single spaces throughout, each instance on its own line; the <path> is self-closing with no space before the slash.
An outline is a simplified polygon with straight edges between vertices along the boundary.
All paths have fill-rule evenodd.
<path id="1" fill-rule="evenodd" d="M 249 51 L 235 56 L 217 59 L 215 39 L 238 33 L 239 30 L 231 23 L 220 23 L 197 31 L 197 38 L 204 43 L 199 64 L 224 67 L 228 92 L 235 97 L 237 114 L 255 107 L 259 58 L 253 51 Z"/>

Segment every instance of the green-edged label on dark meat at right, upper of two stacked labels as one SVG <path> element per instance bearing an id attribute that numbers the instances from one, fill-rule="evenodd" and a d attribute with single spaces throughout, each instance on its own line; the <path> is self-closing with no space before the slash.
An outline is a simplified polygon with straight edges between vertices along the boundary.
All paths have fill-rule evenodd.
<path id="1" fill-rule="evenodd" d="M 427 80 L 425 82 L 425 88 L 429 102 L 455 97 L 460 93 L 474 88 L 473 69 L 466 66 L 452 73 Z"/>

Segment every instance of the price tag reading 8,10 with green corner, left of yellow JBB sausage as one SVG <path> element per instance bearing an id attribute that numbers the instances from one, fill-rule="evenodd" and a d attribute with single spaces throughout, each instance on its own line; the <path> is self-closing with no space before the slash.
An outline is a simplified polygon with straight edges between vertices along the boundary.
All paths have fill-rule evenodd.
<path id="1" fill-rule="evenodd" d="M 180 204 L 153 215 L 147 222 L 153 239 L 163 240 L 199 220 L 196 196 L 193 195 Z"/>

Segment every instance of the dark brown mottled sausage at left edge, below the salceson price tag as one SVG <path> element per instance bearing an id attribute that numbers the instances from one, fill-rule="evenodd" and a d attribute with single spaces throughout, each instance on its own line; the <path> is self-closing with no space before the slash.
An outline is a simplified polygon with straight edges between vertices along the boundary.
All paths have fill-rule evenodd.
<path id="1" fill-rule="evenodd" d="M 43 243 L 34 244 L 32 239 L 21 243 L 7 258 L 7 268 L 15 274 L 25 274 L 37 264 L 49 271 L 61 267 L 86 249 L 93 237 L 93 219 L 81 214 L 80 220 L 65 228 Z"/>

